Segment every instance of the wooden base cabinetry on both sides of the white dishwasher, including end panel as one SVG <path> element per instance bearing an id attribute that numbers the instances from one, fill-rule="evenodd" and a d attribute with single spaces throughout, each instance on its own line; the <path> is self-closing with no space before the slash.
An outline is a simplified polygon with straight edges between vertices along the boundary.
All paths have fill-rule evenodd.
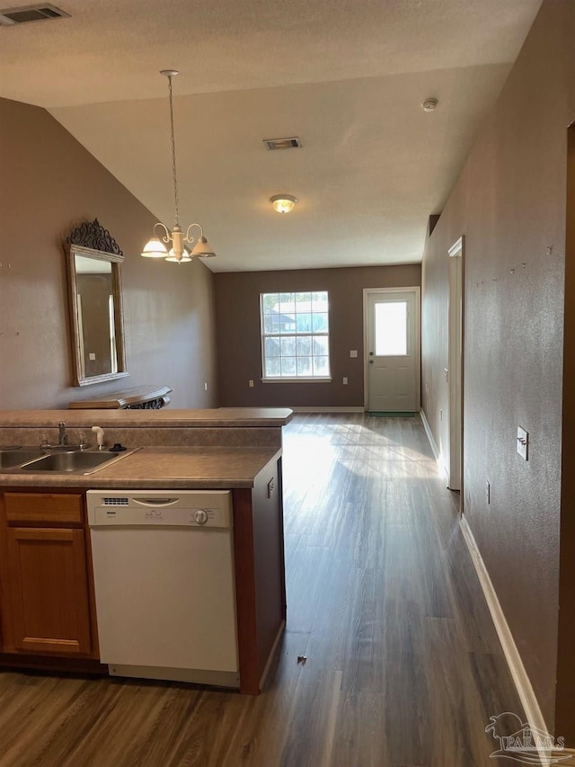
<path id="1" fill-rule="evenodd" d="M 286 624 L 278 455 L 230 489 L 239 686 L 257 695 Z M 0 666 L 106 673 L 84 490 L 0 488 L 0 630 Z"/>

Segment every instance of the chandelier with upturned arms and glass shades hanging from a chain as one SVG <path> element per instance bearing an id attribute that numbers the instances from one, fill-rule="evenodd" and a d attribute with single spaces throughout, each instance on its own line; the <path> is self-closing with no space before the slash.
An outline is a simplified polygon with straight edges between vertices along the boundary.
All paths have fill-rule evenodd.
<path id="1" fill-rule="evenodd" d="M 178 74 L 177 69 L 162 69 L 160 75 L 168 78 L 168 90 L 170 94 L 170 129 L 172 135 L 172 174 L 173 174 L 173 202 L 174 202 L 174 214 L 173 214 L 173 228 L 172 231 L 160 221 L 154 225 L 155 236 L 144 245 L 142 255 L 145 258 L 164 258 L 166 261 L 172 261 L 175 263 L 188 263 L 195 255 L 203 258 L 208 258 L 211 255 L 216 255 L 213 249 L 208 244 L 208 240 L 204 236 L 204 230 L 200 224 L 190 224 L 186 229 L 186 233 L 181 230 L 180 227 L 180 211 L 179 211 L 179 197 L 178 197 L 178 175 L 176 173 L 176 142 L 173 133 L 173 97 L 172 97 L 172 78 Z M 159 227 L 159 228 L 158 228 Z M 192 227 L 199 228 L 199 237 L 194 239 L 190 235 Z M 160 239 L 160 236 L 162 239 Z M 189 253 L 185 244 L 192 245 L 196 243 Z M 172 243 L 172 248 L 168 253 L 168 249 L 164 243 L 168 245 Z"/>

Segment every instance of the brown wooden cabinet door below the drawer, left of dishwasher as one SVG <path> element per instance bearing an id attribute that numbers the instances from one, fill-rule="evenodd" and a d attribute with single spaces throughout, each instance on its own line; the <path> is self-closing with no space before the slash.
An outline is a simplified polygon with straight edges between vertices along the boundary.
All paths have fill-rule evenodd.
<path id="1" fill-rule="evenodd" d="M 90 653 L 84 531 L 9 528 L 6 535 L 14 648 Z"/>

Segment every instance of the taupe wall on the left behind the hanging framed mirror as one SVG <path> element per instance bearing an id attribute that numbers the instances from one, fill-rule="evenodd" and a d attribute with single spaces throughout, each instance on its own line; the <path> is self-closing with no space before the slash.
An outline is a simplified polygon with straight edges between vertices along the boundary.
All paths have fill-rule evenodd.
<path id="1" fill-rule="evenodd" d="M 206 266 L 141 258 L 155 218 L 47 111 L 0 99 L 0 168 L 0 406 L 60 407 L 142 384 L 173 387 L 176 407 L 217 405 Z M 126 256 L 130 376 L 73 388 L 62 242 L 95 218 Z"/>

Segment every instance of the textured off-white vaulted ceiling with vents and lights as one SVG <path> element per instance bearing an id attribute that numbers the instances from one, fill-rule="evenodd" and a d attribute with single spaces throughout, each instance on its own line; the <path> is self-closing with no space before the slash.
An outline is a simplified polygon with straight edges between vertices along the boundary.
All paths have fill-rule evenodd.
<path id="1" fill-rule="evenodd" d="M 169 225 L 157 73 L 179 69 L 181 222 L 221 272 L 420 261 L 540 0 L 56 4 L 70 18 L 0 28 L 0 96 L 48 108 Z M 282 136 L 303 148 L 261 143 Z M 299 199 L 288 216 L 279 192 Z"/>

